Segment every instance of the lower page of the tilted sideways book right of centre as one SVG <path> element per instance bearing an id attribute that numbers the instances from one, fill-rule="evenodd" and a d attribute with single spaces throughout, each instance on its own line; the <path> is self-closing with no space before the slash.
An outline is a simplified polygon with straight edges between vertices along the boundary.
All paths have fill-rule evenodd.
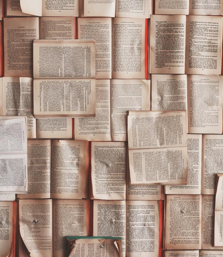
<path id="1" fill-rule="evenodd" d="M 187 147 L 129 150 L 131 184 L 187 184 Z"/>

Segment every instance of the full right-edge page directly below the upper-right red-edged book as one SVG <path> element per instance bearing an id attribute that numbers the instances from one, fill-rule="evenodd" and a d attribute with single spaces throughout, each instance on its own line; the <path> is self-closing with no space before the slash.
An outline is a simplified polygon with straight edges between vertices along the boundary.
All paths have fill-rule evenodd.
<path id="1" fill-rule="evenodd" d="M 223 76 L 188 75 L 188 133 L 221 134 Z"/>

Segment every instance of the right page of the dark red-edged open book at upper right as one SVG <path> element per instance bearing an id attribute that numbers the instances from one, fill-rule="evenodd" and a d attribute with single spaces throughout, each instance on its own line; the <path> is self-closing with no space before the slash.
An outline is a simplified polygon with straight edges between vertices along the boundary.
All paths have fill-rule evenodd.
<path id="1" fill-rule="evenodd" d="M 186 33 L 185 73 L 221 75 L 223 18 L 187 16 Z"/>

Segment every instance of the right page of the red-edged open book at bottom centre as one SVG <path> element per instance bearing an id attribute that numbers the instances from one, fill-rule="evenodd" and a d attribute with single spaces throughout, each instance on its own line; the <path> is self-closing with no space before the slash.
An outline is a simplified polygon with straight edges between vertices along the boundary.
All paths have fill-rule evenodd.
<path id="1" fill-rule="evenodd" d="M 159 201 L 126 201 L 126 255 L 159 256 Z"/>

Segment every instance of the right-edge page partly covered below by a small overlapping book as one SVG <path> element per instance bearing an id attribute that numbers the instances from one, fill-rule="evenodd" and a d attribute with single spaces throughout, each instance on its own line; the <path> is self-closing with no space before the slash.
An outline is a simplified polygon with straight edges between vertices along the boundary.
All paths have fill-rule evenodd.
<path id="1" fill-rule="evenodd" d="M 223 173 L 223 135 L 203 135 L 201 193 L 214 195 L 216 173 Z"/>

